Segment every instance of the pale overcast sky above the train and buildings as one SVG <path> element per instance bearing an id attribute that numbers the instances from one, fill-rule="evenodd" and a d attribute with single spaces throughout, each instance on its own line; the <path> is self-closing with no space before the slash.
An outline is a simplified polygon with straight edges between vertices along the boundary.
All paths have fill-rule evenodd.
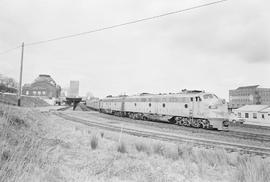
<path id="1" fill-rule="evenodd" d="M 210 0 L 0 0 L 0 52 L 189 8 Z M 229 0 L 95 34 L 25 48 L 23 83 L 50 74 L 80 94 L 214 92 L 270 88 L 270 2 Z M 0 73 L 19 78 L 20 50 L 0 55 Z"/>

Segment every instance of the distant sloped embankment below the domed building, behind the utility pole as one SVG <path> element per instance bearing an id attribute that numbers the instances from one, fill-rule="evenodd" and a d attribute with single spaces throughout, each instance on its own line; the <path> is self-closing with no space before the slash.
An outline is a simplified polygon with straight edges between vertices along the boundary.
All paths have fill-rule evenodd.
<path id="1" fill-rule="evenodd" d="M 10 93 L 1 93 L 0 92 L 0 103 L 9 104 L 9 105 L 17 105 L 16 94 Z M 30 96 L 22 96 L 21 97 L 21 106 L 23 107 L 42 107 L 42 106 L 49 106 L 47 102 L 38 98 L 38 97 L 30 97 Z"/>

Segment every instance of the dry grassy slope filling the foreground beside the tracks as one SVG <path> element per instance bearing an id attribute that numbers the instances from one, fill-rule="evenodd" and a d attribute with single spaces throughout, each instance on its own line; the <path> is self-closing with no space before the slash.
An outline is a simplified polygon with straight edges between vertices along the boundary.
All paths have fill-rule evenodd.
<path id="1" fill-rule="evenodd" d="M 270 161 L 0 107 L 0 181 L 270 181 Z"/>

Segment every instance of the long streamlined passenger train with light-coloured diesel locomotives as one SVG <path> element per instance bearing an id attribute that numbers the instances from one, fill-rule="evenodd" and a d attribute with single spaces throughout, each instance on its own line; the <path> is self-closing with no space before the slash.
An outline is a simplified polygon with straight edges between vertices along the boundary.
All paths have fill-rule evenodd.
<path id="1" fill-rule="evenodd" d="M 141 120 L 165 118 L 170 123 L 195 128 L 228 130 L 229 125 L 225 100 L 204 91 L 107 96 L 101 100 L 87 100 L 86 105 L 116 116 Z"/>

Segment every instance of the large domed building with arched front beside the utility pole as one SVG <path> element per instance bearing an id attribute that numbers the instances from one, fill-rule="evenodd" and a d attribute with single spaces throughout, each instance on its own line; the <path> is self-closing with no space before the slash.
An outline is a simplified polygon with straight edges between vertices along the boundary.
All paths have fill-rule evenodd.
<path id="1" fill-rule="evenodd" d="M 22 94 L 28 96 L 39 96 L 44 98 L 58 98 L 61 87 L 51 78 L 50 75 L 39 75 L 33 83 L 25 84 Z"/>

